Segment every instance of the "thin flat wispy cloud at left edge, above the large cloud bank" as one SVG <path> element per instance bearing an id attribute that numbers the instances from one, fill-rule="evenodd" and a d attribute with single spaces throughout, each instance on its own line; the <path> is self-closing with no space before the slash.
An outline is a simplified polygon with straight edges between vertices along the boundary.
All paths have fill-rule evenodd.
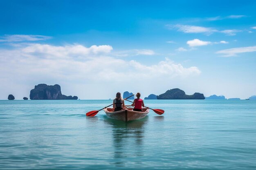
<path id="1" fill-rule="evenodd" d="M 51 38 L 44 35 L 4 35 L 0 37 L 0 42 L 40 41 Z"/>

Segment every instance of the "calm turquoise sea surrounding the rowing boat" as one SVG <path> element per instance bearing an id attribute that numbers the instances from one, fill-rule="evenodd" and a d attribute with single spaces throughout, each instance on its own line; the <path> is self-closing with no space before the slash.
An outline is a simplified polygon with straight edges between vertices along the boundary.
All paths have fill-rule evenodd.
<path id="1" fill-rule="evenodd" d="M 146 100 L 128 123 L 112 100 L 0 101 L 0 169 L 256 169 L 256 101 Z"/>

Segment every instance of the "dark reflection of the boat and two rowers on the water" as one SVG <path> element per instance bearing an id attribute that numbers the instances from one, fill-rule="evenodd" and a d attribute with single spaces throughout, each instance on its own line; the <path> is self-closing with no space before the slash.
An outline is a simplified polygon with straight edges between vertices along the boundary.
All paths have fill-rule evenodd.
<path id="1" fill-rule="evenodd" d="M 133 121 L 118 121 L 106 117 L 104 123 L 112 126 L 112 139 L 114 159 L 116 166 L 124 166 L 124 158 L 143 156 L 144 127 L 148 116 L 144 119 Z"/>

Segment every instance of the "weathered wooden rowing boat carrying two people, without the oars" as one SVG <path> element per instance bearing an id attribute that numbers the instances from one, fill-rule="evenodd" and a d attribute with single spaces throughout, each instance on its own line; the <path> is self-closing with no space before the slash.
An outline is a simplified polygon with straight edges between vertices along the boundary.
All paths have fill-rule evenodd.
<path id="1" fill-rule="evenodd" d="M 146 115 L 149 113 L 149 108 L 142 108 L 141 112 L 133 111 L 132 108 L 126 108 L 116 112 L 114 112 L 114 108 L 104 108 L 104 111 L 108 118 L 127 122 L 146 117 Z"/>

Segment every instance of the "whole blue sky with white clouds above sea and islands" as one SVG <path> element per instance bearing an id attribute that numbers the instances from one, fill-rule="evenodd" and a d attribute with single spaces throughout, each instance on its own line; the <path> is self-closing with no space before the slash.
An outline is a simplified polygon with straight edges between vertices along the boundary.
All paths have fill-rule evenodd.
<path id="1" fill-rule="evenodd" d="M 254 0 L 0 2 L 0 99 L 37 84 L 79 99 L 171 88 L 256 95 Z"/>

